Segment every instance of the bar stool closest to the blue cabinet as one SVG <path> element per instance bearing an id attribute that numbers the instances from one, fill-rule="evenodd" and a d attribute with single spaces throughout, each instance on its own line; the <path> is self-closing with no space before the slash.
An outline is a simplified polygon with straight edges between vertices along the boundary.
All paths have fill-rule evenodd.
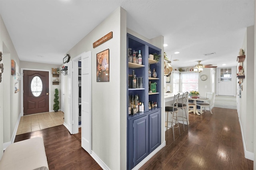
<path id="1" fill-rule="evenodd" d="M 172 133 L 173 133 L 173 141 L 174 141 L 174 128 L 178 128 L 179 129 L 179 133 L 180 133 L 180 127 L 179 127 L 179 123 L 178 123 L 178 100 L 180 97 L 180 93 L 174 95 L 174 100 L 173 100 L 173 105 L 171 106 L 166 106 L 165 107 L 165 112 L 167 113 L 167 120 L 166 120 L 166 130 L 168 129 L 168 123 L 171 123 L 171 128 L 172 128 Z M 172 115 L 172 121 L 168 120 L 168 115 L 169 113 L 171 113 Z M 175 121 L 175 124 L 174 124 Z"/>

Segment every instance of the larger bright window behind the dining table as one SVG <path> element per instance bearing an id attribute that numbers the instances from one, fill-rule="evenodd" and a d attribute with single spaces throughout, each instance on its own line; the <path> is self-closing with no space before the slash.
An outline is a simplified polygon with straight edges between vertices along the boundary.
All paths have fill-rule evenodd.
<path id="1" fill-rule="evenodd" d="M 182 92 L 198 91 L 198 73 L 182 73 Z"/>

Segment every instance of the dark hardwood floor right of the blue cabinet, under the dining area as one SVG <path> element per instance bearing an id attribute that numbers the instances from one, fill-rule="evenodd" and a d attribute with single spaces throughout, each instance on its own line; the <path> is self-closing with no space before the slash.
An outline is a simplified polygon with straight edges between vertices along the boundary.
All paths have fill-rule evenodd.
<path id="1" fill-rule="evenodd" d="M 238 114 L 234 109 L 214 107 L 201 116 L 189 114 L 189 128 L 180 124 L 165 132 L 166 146 L 140 170 L 253 170 L 244 158 Z"/>

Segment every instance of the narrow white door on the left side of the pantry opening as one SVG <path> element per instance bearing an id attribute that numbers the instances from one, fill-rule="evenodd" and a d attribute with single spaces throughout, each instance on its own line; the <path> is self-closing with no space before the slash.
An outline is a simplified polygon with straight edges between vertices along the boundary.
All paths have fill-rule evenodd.
<path id="1" fill-rule="evenodd" d="M 68 128 L 68 131 L 70 134 L 73 134 L 73 95 L 72 95 L 72 61 L 68 62 L 68 110 L 66 111 L 66 117 L 64 117 L 64 125 L 66 123 L 66 128 Z"/>

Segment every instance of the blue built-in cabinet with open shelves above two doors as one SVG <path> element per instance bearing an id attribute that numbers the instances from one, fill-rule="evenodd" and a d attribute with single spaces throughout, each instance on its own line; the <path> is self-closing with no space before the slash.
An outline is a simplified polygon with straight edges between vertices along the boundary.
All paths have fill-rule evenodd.
<path id="1" fill-rule="evenodd" d="M 142 65 L 129 63 L 128 48 L 135 51 L 141 51 Z M 161 49 L 140 40 L 130 34 L 127 34 L 127 169 L 134 168 L 148 154 L 155 150 L 161 144 L 161 57 L 159 61 L 148 59 L 149 54 L 161 54 Z M 138 56 L 138 53 L 137 53 Z M 158 76 L 150 78 L 148 75 L 150 69 L 156 70 Z M 143 77 L 143 88 L 132 89 L 130 85 L 130 76 L 135 71 L 136 77 Z M 156 93 L 149 93 L 149 82 L 156 82 Z M 129 115 L 128 105 L 129 96 L 138 95 L 140 102 L 144 103 L 144 112 L 138 112 L 135 115 Z M 149 109 L 148 103 L 157 102 L 158 107 Z"/>

